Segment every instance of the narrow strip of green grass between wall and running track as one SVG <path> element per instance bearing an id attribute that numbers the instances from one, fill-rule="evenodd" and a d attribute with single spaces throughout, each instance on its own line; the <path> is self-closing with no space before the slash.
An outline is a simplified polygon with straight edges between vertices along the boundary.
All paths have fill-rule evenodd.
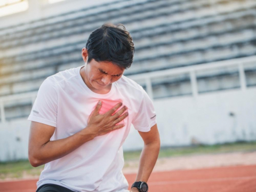
<path id="1" fill-rule="evenodd" d="M 254 142 L 237 142 L 226 143 L 222 145 L 199 145 L 191 147 L 168 147 L 162 148 L 159 153 L 161 157 L 177 157 L 185 155 L 197 154 L 217 154 L 217 153 L 230 153 L 235 151 L 256 151 L 256 141 Z M 138 160 L 141 151 L 126 151 L 124 152 L 125 161 Z M 23 178 L 25 175 L 39 176 L 43 170 L 44 165 L 33 167 L 29 161 L 17 162 L 0 162 L 0 180 L 6 178 Z"/>

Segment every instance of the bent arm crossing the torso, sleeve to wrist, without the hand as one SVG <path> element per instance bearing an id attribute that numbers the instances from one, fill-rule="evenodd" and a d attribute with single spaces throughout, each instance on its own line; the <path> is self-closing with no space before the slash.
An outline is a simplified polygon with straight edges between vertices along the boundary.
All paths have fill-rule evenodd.
<path id="1" fill-rule="evenodd" d="M 32 166 L 37 167 L 61 158 L 75 150 L 94 136 L 86 129 L 65 139 L 50 141 L 55 127 L 31 122 L 28 144 L 28 157 Z"/>

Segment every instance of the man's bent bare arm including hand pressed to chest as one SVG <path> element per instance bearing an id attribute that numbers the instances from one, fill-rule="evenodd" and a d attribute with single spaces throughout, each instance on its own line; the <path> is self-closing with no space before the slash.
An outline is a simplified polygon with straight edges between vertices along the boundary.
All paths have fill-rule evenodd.
<path id="1" fill-rule="evenodd" d="M 89 117 L 89 122 L 85 129 L 65 139 L 50 141 L 55 127 L 38 122 L 31 122 L 28 144 L 30 164 L 36 167 L 51 162 L 71 153 L 71 151 L 74 151 L 85 142 L 99 135 L 122 128 L 124 124 L 116 124 L 128 116 L 127 113 L 124 113 L 126 108 L 123 107 L 117 111 L 115 115 L 112 115 L 122 106 L 122 103 L 118 103 L 115 107 L 107 111 L 107 113 L 100 115 L 99 111 L 101 105 L 102 103 L 99 102 Z"/>

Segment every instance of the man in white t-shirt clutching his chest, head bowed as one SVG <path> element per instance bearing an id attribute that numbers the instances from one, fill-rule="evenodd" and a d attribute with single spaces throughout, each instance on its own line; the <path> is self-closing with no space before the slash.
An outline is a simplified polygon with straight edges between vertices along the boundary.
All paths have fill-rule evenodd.
<path id="1" fill-rule="evenodd" d="M 140 85 L 123 76 L 133 54 L 125 27 L 105 24 L 82 49 L 85 65 L 42 83 L 28 117 L 29 161 L 45 164 L 36 192 L 129 191 L 122 145 L 131 124 L 145 143 L 131 191 L 148 190 L 160 140 L 152 101 Z"/>

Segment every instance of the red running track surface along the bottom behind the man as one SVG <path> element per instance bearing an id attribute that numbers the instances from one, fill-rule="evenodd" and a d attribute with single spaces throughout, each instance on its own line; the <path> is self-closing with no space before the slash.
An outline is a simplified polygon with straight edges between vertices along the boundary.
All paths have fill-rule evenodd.
<path id="1" fill-rule="evenodd" d="M 125 174 L 134 182 L 136 174 Z M 37 180 L 0 182 L 1 192 L 35 192 Z M 255 192 L 256 165 L 154 172 L 149 192 Z"/>

